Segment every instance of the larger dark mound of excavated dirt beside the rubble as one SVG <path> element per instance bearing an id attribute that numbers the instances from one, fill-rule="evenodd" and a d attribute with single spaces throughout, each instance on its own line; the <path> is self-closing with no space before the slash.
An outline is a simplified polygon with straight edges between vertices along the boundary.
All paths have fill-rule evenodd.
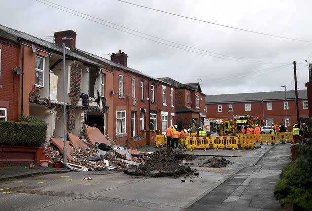
<path id="1" fill-rule="evenodd" d="M 196 169 L 180 165 L 181 161 L 187 157 L 180 149 L 169 149 L 156 151 L 146 163 L 140 166 L 128 166 L 124 172 L 130 175 L 142 175 L 148 177 L 180 177 L 194 175 Z"/>

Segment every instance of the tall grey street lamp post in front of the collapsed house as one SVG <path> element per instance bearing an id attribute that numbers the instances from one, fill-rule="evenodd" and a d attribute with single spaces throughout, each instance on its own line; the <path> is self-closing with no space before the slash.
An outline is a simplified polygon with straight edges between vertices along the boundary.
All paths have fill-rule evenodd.
<path id="1" fill-rule="evenodd" d="M 67 142 L 67 127 L 66 127 L 66 102 L 65 102 L 65 86 L 66 86 L 66 74 L 65 74 L 65 41 L 66 40 L 74 40 L 73 38 L 62 38 L 63 40 L 63 115 L 64 115 L 64 148 L 63 148 L 63 168 L 67 168 L 67 148 L 66 148 L 66 142 Z"/>

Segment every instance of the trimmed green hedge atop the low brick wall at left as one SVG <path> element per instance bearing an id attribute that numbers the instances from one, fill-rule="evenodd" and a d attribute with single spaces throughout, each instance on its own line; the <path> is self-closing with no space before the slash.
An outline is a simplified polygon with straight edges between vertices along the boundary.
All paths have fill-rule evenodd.
<path id="1" fill-rule="evenodd" d="M 47 138 L 47 123 L 37 117 L 20 117 L 20 122 L 0 122 L 0 144 L 41 146 Z"/>

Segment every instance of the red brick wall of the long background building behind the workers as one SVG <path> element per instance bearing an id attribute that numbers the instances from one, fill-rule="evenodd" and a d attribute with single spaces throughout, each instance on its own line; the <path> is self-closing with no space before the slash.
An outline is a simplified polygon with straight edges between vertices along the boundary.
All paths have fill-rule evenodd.
<path id="1" fill-rule="evenodd" d="M 299 115 L 300 117 L 308 117 L 308 109 L 303 109 L 302 102 L 307 101 L 307 99 L 299 100 Z M 272 103 L 272 110 L 267 110 L 267 102 Z M 251 104 L 251 111 L 245 111 L 245 103 Z M 222 105 L 222 112 L 218 112 L 218 105 Z M 233 105 L 233 111 L 228 111 L 228 105 Z M 284 110 L 284 101 L 264 101 L 264 124 L 266 124 L 267 119 L 272 119 L 274 124 L 285 124 L 284 119 L 286 118 L 286 110 Z M 234 115 L 252 115 L 259 116 L 262 120 L 262 102 L 235 102 L 235 103 L 214 103 L 214 104 L 206 104 L 207 118 L 221 118 L 221 119 L 232 119 Z M 290 120 L 290 126 L 288 130 L 292 128 L 292 126 L 297 122 L 296 116 L 296 101 L 288 100 L 287 110 L 287 118 Z"/>

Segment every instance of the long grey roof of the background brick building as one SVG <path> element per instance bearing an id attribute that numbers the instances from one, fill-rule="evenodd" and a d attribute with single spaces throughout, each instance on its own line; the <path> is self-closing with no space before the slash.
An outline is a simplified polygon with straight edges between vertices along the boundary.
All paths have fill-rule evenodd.
<path id="1" fill-rule="evenodd" d="M 286 91 L 287 99 L 295 99 L 295 91 Z M 298 90 L 298 99 L 307 99 L 306 90 Z M 206 103 L 285 100 L 285 91 L 207 95 Z"/>

